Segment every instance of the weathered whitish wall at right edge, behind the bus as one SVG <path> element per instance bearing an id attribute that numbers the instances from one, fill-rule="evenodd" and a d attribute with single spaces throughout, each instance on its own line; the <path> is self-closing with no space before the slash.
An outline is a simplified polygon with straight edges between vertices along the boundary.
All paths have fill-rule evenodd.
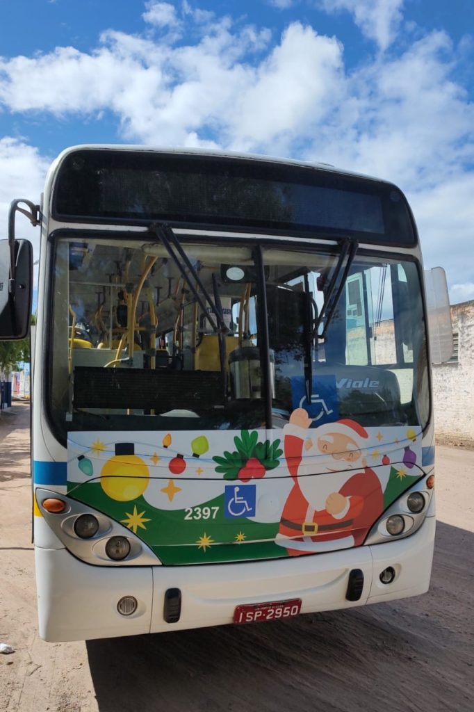
<path id="1" fill-rule="evenodd" d="M 451 306 L 458 360 L 433 366 L 438 441 L 474 446 L 474 300 Z"/>

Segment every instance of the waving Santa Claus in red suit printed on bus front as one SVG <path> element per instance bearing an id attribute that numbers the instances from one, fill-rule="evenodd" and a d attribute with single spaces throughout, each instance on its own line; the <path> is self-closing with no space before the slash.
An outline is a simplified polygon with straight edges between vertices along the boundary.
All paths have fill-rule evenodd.
<path id="1" fill-rule="evenodd" d="M 384 511 L 381 483 L 362 454 L 367 431 L 348 419 L 309 430 L 311 423 L 298 408 L 283 429 L 294 485 L 275 543 L 293 556 L 360 545 Z"/>

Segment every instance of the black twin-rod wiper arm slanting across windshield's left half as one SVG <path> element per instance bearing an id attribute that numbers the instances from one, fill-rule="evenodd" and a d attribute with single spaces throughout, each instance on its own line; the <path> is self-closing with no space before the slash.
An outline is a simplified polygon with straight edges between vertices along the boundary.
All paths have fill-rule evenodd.
<path id="1" fill-rule="evenodd" d="M 174 264 L 181 272 L 181 276 L 184 278 L 184 281 L 189 286 L 189 289 L 191 290 L 194 295 L 194 298 L 196 299 L 196 302 L 199 304 L 204 315 L 209 321 L 212 330 L 216 333 L 226 334 L 228 332 L 228 327 L 226 326 L 223 320 L 223 313 L 220 301 L 213 300 L 211 298 L 211 295 L 209 295 L 209 292 L 204 287 L 204 284 L 202 283 L 201 278 L 199 278 L 196 269 L 191 264 L 189 257 L 186 255 L 184 249 L 179 244 L 179 240 L 174 234 L 172 226 L 167 223 L 154 223 L 149 226 L 149 232 L 154 233 L 159 238 L 159 240 L 162 241 L 164 248 L 167 250 L 167 253 L 174 261 Z M 204 297 L 204 300 L 202 299 L 202 297 Z M 206 309 L 206 302 L 211 308 L 211 313 L 216 315 L 218 324 L 216 324 L 216 322 L 211 316 L 211 313 L 209 313 L 209 311 Z"/>

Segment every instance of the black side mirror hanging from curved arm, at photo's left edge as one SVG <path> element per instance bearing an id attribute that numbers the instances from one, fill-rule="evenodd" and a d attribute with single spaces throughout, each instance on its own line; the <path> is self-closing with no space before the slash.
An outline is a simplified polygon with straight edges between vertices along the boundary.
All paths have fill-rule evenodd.
<path id="1" fill-rule="evenodd" d="M 33 247 L 14 241 L 14 278 L 11 243 L 0 240 L 0 340 L 23 339 L 28 334 L 33 284 Z"/>

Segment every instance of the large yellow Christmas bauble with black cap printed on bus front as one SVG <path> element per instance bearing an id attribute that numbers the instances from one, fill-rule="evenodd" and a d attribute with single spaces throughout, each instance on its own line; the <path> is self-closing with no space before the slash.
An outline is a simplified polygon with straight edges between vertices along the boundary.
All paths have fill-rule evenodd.
<path id="1" fill-rule="evenodd" d="M 134 444 L 116 443 L 115 456 L 107 460 L 100 473 L 105 494 L 117 502 L 130 502 L 144 493 L 148 482 L 148 467 L 135 455 Z"/>

